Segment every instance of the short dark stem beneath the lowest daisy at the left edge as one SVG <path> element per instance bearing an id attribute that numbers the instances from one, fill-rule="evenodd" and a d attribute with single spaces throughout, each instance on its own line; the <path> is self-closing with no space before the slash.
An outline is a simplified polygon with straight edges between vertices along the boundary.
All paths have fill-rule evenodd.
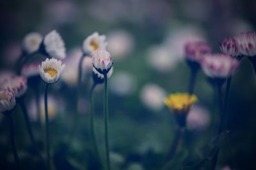
<path id="1" fill-rule="evenodd" d="M 7 116 L 8 116 L 9 122 L 10 122 L 10 139 L 11 139 L 11 144 L 12 144 L 12 153 L 13 153 L 13 157 L 15 160 L 15 164 L 17 167 L 19 167 L 19 156 L 17 153 L 16 145 L 15 145 L 14 123 L 13 123 L 12 114 L 8 114 Z"/>

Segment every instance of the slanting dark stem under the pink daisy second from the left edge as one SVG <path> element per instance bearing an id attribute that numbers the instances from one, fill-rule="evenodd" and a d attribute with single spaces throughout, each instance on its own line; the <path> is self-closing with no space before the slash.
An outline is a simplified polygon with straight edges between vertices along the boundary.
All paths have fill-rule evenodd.
<path id="1" fill-rule="evenodd" d="M 36 140 L 35 140 L 35 137 L 33 135 L 31 124 L 29 122 L 28 111 L 27 111 L 27 108 L 24 104 L 24 97 L 21 97 L 19 99 L 19 104 L 20 104 L 20 108 L 22 110 L 22 113 L 23 113 L 23 116 L 24 116 L 24 119 L 25 119 L 25 122 L 26 122 L 26 127 L 27 127 L 27 130 L 28 130 L 30 141 L 31 141 L 32 145 L 34 146 L 36 152 L 38 153 L 39 157 L 42 158 L 41 155 L 40 155 L 40 152 L 39 152 L 39 150 L 36 146 Z"/>

